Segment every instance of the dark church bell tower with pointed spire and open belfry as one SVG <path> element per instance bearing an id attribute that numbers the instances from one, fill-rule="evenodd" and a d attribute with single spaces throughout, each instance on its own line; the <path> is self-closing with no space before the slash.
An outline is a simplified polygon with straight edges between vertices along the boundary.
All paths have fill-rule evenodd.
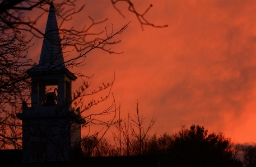
<path id="1" fill-rule="evenodd" d="M 22 104 L 24 163 L 67 161 L 80 147 L 80 109 L 71 107 L 72 81 L 77 78 L 64 65 L 53 4 L 50 5 L 39 64 L 26 73 L 31 77 L 31 107 Z M 52 89 L 48 89 L 48 88 Z"/>

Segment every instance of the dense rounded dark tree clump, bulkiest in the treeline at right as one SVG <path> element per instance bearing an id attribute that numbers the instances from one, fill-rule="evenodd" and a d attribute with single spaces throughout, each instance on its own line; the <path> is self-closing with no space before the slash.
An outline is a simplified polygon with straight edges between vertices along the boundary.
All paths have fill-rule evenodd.
<path id="1" fill-rule="evenodd" d="M 234 145 L 222 133 L 211 133 L 192 125 L 173 136 L 161 136 L 159 141 L 169 141 L 167 148 L 160 150 L 163 166 L 243 166 L 234 159 Z M 161 139 L 162 138 L 162 139 Z M 166 151 L 166 152 L 165 152 Z"/>

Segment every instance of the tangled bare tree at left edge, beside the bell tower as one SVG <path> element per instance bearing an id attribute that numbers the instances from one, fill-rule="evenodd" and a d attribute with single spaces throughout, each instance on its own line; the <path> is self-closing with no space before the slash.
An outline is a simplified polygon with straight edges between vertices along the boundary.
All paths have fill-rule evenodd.
<path id="1" fill-rule="evenodd" d="M 29 79 L 25 70 L 32 61 L 26 59 L 26 51 L 31 45 L 25 35 L 5 26 L 0 31 L 0 132 L 1 147 L 13 145 L 19 149 L 20 123 L 15 112 L 21 109 L 22 100 L 29 98 Z"/>

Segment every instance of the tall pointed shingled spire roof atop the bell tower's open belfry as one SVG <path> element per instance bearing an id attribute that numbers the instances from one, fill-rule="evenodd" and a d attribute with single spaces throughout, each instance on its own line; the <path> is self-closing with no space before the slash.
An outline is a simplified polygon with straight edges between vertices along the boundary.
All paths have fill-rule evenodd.
<path id="1" fill-rule="evenodd" d="M 27 73 L 30 74 L 30 73 L 39 72 L 39 71 L 59 71 L 59 70 L 61 71 L 64 70 L 64 71 L 67 71 L 69 74 L 71 74 L 71 72 L 68 71 L 68 69 L 64 64 L 62 46 L 60 44 L 58 23 L 55 15 L 55 9 L 52 3 L 50 4 L 39 64 L 27 70 Z M 74 77 L 75 75 L 72 76 L 72 78 Z"/>

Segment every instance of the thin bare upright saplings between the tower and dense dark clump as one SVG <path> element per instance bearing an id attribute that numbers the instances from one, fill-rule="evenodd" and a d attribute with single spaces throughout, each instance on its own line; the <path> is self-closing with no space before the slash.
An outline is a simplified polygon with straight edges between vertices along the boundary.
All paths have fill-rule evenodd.
<path id="1" fill-rule="evenodd" d="M 136 102 L 136 114 L 132 117 L 128 113 L 128 120 L 118 120 L 114 126 L 117 127 L 117 132 L 113 132 L 114 140 L 120 155 L 145 155 L 148 142 L 154 136 L 148 134 L 156 122 L 156 117 L 152 116 L 150 123 L 145 127 L 145 117 L 139 113 L 139 102 Z M 120 118 L 119 118 L 120 119 Z M 120 123 L 119 123 L 120 122 Z M 122 137 L 121 137 L 122 135 Z"/>

